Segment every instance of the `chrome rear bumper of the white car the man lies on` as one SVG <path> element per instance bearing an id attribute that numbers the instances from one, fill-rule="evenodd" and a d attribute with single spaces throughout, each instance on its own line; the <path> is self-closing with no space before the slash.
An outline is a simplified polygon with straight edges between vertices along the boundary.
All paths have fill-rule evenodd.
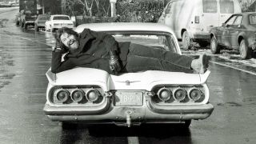
<path id="1" fill-rule="evenodd" d="M 56 107 L 47 104 L 44 107 L 46 116 L 52 121 L 87 124 L 184 122 L 208 118 L 213 110 L 214 106 L 210 103 L 194 106 L 159 106 L 151 101 L 143 106 L 113 106 L 108 101 L 98 107 Z"/>

